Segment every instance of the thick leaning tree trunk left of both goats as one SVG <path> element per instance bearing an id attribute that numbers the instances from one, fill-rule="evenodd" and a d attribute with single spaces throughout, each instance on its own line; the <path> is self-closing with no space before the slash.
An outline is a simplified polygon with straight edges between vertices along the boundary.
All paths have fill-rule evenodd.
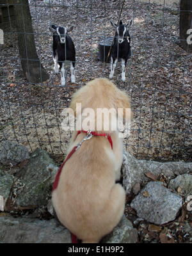
<path id="1" fill-rule="evenodd" d="M 42 83 L 49 78 L 36 54 L 28 0 L 15 0 L 15 16 L 20 61 L 24 76 L 30 83 Z"/>

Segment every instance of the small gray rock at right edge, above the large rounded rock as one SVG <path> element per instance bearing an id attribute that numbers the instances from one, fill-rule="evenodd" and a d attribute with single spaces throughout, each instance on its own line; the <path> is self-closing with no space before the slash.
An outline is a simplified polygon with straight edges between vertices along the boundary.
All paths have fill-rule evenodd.
<path id="1" fill-rule="evenodd" d="M 175 191 L 180 188 L 179 194 L 186 197 L 192 195 L 192 175 L 186 173 L 177 176 L 175 179 L 170 180 L 168 188 L 175 189 Z"/>

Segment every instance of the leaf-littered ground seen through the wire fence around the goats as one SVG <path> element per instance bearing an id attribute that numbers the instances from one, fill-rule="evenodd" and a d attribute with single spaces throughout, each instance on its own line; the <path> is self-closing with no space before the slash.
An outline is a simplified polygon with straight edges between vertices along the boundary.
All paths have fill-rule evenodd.
<path id="1" fill-rule="evenodd" d="M 115 35 L 109 20 L 113 17 L 117 22 L 122 9 L 123 22 L 133 19 L 126 81 L 121 81 L 120 63 L 113 77 L 118 88 L 130 95 L 134 113 L 125 148 L 142 159 L 191 160 L 191 55 L 178 44 L 179 1 L 30 0 L 36 52 L 49 74 L 40 83 L 30 83 L 22 70 L 15 17 L 18 4 L 26 1 L 0 1 L 4 35 L 0 45 L 0 141 L 16 141 L 31 152 L 42 148 L 49 154 L 65 154 L 71 134 L 61 127 L 62 110 L 86 82 L 109 77 L 110 65 L 98 60 L 98 46 Z M 60 74 L 54 74 L 50 24 L 74 26 L 70 32 L 76 47 L 74 84 L 70 67 L 64 87 Z M 28 33 L 31 31 L 24 32 Z"/>

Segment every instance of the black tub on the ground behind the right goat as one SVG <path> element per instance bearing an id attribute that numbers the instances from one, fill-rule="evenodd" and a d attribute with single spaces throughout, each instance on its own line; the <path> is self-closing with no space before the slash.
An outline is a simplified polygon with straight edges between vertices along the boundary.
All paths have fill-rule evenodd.
<path id="1" fill-rule="evenodd" d="M 104 40 L 99 43 L 99 56 L 98 60 L 102 62 L 110 62 L 111 60 L 111 52 L 109 54 L 111 44 L 113 43 L 113 36 L 104 38 Z M 108 56 L 109 54 L 109 56 Z"/>

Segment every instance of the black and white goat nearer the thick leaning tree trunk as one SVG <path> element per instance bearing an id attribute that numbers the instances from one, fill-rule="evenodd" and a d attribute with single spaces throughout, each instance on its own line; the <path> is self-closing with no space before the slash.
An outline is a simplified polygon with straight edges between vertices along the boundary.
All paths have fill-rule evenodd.
<path id="1" fill-rule="evenodd" d="M 49 30 L 53 33 L 54 72 L 61 72 L 61 86 L 65 86 L 65 61 L 70 61 L 71 82 L 76 83 L 76 50 L 72 38 L 67 34 L 73 28 L 74 26 L 71 26 L 69 29 L 55 25 L 49 26 Z"/>

